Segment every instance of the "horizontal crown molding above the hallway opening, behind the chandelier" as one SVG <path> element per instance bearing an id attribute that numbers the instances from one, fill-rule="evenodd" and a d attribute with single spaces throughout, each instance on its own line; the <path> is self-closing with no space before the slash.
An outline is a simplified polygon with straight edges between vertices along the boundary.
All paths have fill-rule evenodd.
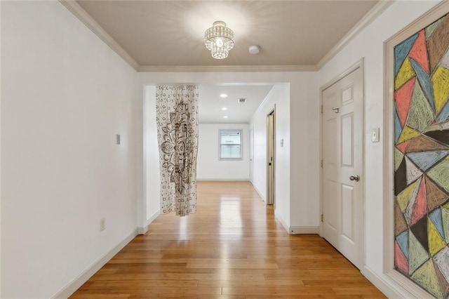
<path id="1" fill-rule="evenodd" d="M 316 72 L 315 65 L 142 65 L 138 72 Z"/>

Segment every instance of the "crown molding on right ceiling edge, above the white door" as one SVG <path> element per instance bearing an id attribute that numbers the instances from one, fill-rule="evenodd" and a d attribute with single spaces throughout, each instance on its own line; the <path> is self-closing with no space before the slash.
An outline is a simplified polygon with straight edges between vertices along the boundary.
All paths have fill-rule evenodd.
<path id="1" fill-rule="evenodd" d="M 324 55 L 323 58 L 316 64 L 316 69 L 320 70 L 326 63 L 328 63 L 332 58 L 334 58 L 337 53 L 339 53 L 344 46 L 347 46 L 356 36 L 363 31 L 368 25 L 374 22 L 384 11 L 387 10 L 396 0 L 380 0 L 377 4 L 371 8 L 370 11 L 360 20 L 358 23 L 352 27 L 352 29 L 343 36 L 340 41 L 330 49 L 330 51 Z"/>

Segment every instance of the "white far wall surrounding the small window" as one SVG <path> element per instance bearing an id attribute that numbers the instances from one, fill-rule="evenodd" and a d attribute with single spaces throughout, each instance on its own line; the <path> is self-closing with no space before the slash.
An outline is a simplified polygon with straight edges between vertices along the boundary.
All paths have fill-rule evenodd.
<path id="1" fill-rule="evenodd" d="M 200 101 L 201 101 L 201 95 Z M 218 159 L 218 132 L 220 129 L 243 130 L 243 159 Z M 249 180 L 250 131 L 248 124 L 199 124 L 198 160 L 196 178 L 199 180 Z"/>

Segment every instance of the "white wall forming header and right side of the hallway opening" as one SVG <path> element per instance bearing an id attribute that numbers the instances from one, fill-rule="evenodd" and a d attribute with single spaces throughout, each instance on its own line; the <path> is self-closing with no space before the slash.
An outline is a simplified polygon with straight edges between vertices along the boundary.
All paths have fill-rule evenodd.
<path id="1" fill-rule="evenodd" d="M 284 139 L 284 147 L 278 149 L 276 158 L 281 159 L 277 161 L 279 167 L 276 168 L 276 184 L 280 184 L 276 185 L 276 215 L 286 230 L 297 232 L 299 227 L 301 232 L 318 231 L 319 95 L 316 93 L 315 72 L 142 72 L 138 77 L 142 85 L 268 83 L 290 86 L 289 90 L 280 88 L 279 96 L 272 99 L 276 102 L 276 109 L 279 109 L 276 133 L 278 138 Z M 278 107 L 278 102 L 283 104 Z M 265 126 L 265 122 L 260 126 Z M 294 132 L 292 135 L 290 128 Z M 258 143 L 262 141 L 256 141 L 256 138 L 262 140 L 263 137 L 261 139 L 255 133 L 255 152 L 257 146 L 263 147 Z M 259 150 L 260 153 L 264 151 Z M 265 169 L 265 165 L 263 159 L 261 167 Z M 260 172 L 256 168 L 255 163 L 255 180 Z M 262 173 L 266 175 L 265 170 Z M 262 176 L 260 180 L 263 180 Z M 257 189 L 261 193 L 266 192 L 266 182 Z M 311 230 L 308 230 L 309 227 Z"/>

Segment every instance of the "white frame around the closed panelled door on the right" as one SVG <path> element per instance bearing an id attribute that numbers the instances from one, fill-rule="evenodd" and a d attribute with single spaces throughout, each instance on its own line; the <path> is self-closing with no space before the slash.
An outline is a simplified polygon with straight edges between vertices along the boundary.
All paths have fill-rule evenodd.
<path id="1" fill-rule="evenodd" d="M 354 65 L 351 65 L 348 67 L 344 72 L 339 74 L 337 77 L 333 78 L 332 80 L 328 81 L 328 83 L 324 84 L 320 87 L 319 93 L 320 93 L 320 122 L 319 122 L 319 131 L 320 131 L 320 140 L 319 140 L 319 147 L 320 147 L 320 159 L 319 159 L 319 175 L 320 175 L 320 182 L 319 182 L 319 201 L 320 201 L 320 215 L 319 215 L 319 233 L 320 237 L 323 237 L 323 222 L 321 221 L 321 215 L 323 215 L 323 91 L 333 84 L 337 83 L 337 81 L 340 81 L 347 75 L 351 74 L 351 72 L 356 71 L 357 69 L 361 70 L 361 82 L 362 82 L 362 99 L 361 99 L 361 136 L 360 136 L 360 152 L 358 153 L 360 155 L 360 161 L 361 161 L 361 207 L 362 207 L 362 213 L 361 213 L 361 222 L 362 227 L 361 231 L 358 235 L 358 239 L 360 239 L 361 244 L 363 246 L 359 246 L 360 250 L 358 252 L 358 256 L 361 258 L 361 267 L 360 271 L 363 274 L 364 272 L 364 265 L 366 265 L 366 242 L 365 242 L 365 228 L 366 228 L 366 194 L 365 194 L 365 184 L 366 184 L 366 169 L 365 169 L 365 113 L 364 113 L 364 107 L 365 107 L 365 98 L 366 98 L 366 92 L 365 92 L 365 70 L 364 70 L 364 59 L 361 58 L 358 60 Z"/>

